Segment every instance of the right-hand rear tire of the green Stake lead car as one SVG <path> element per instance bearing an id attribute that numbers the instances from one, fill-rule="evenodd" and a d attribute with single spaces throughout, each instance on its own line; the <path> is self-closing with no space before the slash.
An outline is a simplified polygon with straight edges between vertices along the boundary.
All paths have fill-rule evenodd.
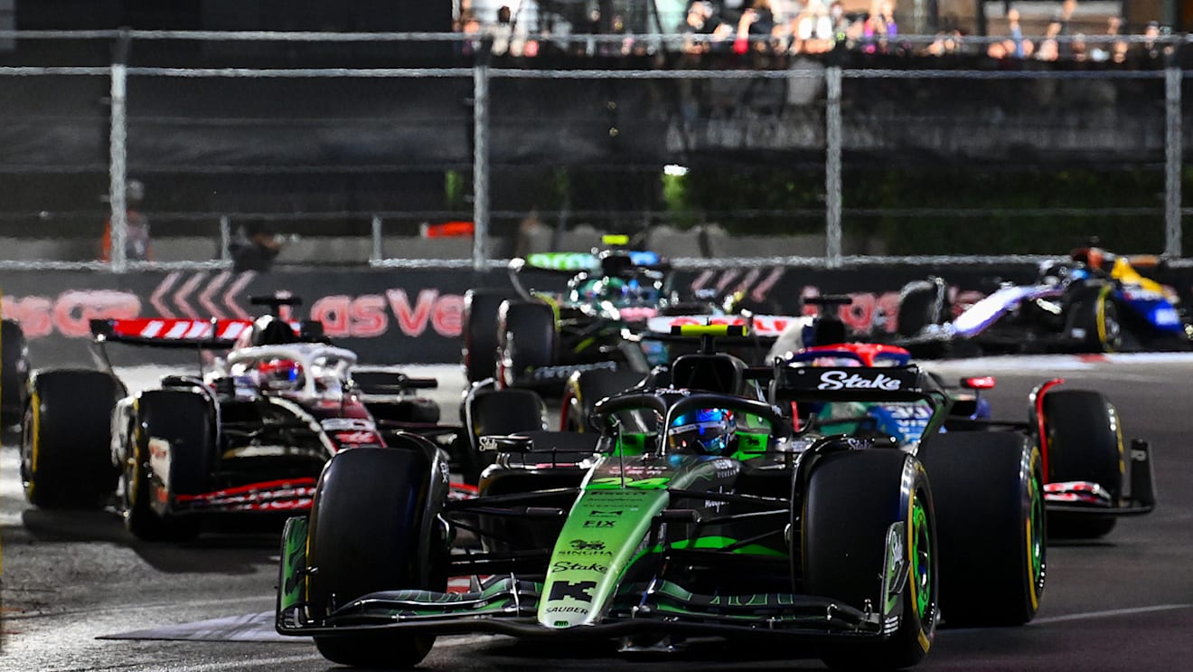
<path id="1" fill-rule="evenodd" d="M 1021 625 L 1044 594 L 1040 451 L 1012 432 L 935 434 L 920 448 L 940 540 L 940 608 L 950 625 Z"/>

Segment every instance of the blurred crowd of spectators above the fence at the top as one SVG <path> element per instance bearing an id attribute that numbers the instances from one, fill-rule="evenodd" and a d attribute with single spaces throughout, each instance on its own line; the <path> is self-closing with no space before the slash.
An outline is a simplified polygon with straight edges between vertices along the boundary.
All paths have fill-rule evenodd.
<path id="1" fill-rule="evenodd" d="M 853 2 L 854 7 L 857 4 Z M 941 30 L 927 38 L 901 29 L 896 0 L 870 0 L 866 11 L 848 11 L 842 0 L 690 0 L 679 25 L 666 30 L 674 38 L 670 50 L 688 55 L 703 54 L 765 54 L 797 55 L 827 54 L 834 50 L 860 54 L 900 54 L 946 56 L 953 54 L 985 55 L 995 60 L 1089 61 L 1127 63 L 1129 61 L 1158 60 L 1174 50 L 1168 39 L 1169 30 L 1151 21 L 1141 30 L 1129 31 L 1119 16 L 1098 17 L 1105 20 L 1105 31 L 1082 32 L 1089 29 L 1090 17 L 1075 20 L 1077 0 L 1063 0 L 1057 13 L 1046 24 L 1036 21 L 1025 29 L 1020 11 L 1012 2 L 1005 12 L 989 21 L 989 33 L 976 36 L 960 25 L 956 17 L 940 17 L 932 23 Z M 552 36 L 542 25 L 528 26 L 518 20 L 509 6 L 501 6 L 493 17 L 474 12 L 469 0 L 462 0 L 456 29 L 478 39 L 465 41 L 462 51 L 470 54 L 488 39 L 494 55 L 532 57 L 546 45 L 564 41 L 571 49 L 587 55 L 647 54 L 654 49 L 647 39 L 636 36 L 620 16 L 601 20 L 593 10 L 581 25 L 569 26 L 570 33 Z M 1040 27 L 1041 25 L 1046 27 Z M 1096 27 L 1096 26 L 1095 26 Z M 1034 31 L 1034 32 L 1033 32 Z M 655 33 L 657 31 L 648 31 Z M 614 39 L 594 41 L 605 33 Z M 587 41 L 586 41 L 586 36 Z"/>

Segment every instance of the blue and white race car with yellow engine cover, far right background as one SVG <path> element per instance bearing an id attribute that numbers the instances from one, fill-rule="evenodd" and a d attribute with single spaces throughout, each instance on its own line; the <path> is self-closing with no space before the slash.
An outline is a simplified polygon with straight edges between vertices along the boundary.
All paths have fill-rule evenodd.
<path id="1" fill-rule="evenodd" d="M 1169 288 L 1137 266 L 1156 258 L 1120 257 L 1098 247 L 1040 264 L 1036 282 L 1003 284 L 953 316 L 944 279 L 905 285 L 896 333 L 921 356 L 964 346 L 981 352 L 1117 352 L 1187 350 L 1193 325 Z"/>

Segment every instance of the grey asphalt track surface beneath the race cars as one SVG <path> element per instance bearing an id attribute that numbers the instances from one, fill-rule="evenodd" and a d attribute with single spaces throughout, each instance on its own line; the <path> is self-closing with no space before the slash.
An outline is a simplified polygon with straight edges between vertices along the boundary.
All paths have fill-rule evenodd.
<path id="1" fill-rule="evenodd" d="M 1121 520 L 1102 541 L 1052 543 L 1047 587 L 1033 623 L 941 629 L 917 670 L 1193 668 L 1193 357 L 999 358 L 929 368 L 948 377 L 993 371 L 999 387 L 990 399 L 1003 419 L 1022 419 L 1027 392 L 1053 375 L 1102 390 L 1118 406 L 1126 434 L 1152 443 L 1160 506 L 1151 516 Z M 431 372 L 444 381 L 444 403 L 455 403 L 458 371 Z M 136 376 L 148 380 L 144 372 Z M 309 641 L 272 634 L 276 532 L 216 530 L 181 545 L 140 543 L 110 512 L 29 507 L 16 466 L 16 450 L 0 450 L 0 671 L 336 668 Z M 203 623 L 210 619 L 222 621 Z M 99 639 L 146 629 L 222 641 Z M 228 641 L 236 639 L 249 641 Z M 785 647 L 696 642 L 679 654 L 628 659 L 604 645 L 544 646 L 500 636 L 440 637 L 421 667 L 546 671 L 626 664 L 686 672 L 822 668 Z"/>

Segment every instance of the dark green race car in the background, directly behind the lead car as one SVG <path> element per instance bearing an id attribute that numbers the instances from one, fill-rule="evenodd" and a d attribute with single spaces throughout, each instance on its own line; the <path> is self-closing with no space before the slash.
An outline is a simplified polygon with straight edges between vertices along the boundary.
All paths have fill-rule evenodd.
<path id="1" fill-rule="evenodd" d="M 536 271 L 565 275 L 565 289 L 528 288 Z M 741 297 L 682 296 L 654 252 L 611 248 L 545 253 L 509 265 L 515 292 L 474 289 L 464 302 L 463 362 L 470 382 L 558 394 L 576 371 L 630 381 L 676 353 L 662 339 L 676 325 L 743 323 Z M 778 334 L 801 316 L 750 314 L 754 333 Z M 741 344 L 754 346 L 756 344 Z M 759 356 L 765 347 L 759 347 Z"/>

